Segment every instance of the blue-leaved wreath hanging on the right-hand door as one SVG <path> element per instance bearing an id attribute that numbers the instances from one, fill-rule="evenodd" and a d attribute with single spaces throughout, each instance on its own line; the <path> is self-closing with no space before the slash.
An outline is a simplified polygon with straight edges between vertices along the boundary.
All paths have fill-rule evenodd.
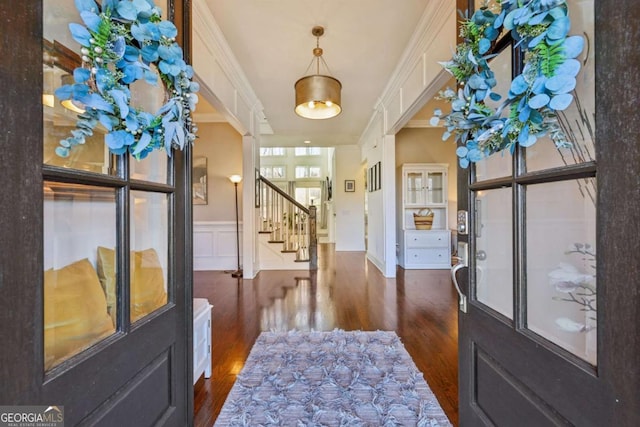
<path id="1" fill-rule="evenodd" d="M 571 143 L 558 124 L 556 111 L 573 102 L 584 47 L 582 36 L 567 37 L 571 26 L 565 0 L 502 0 L 496 14 L 482 7 L 462 22 L 464 39 L 451 61 L 442 63 L 459 82 L 456 93 L 447 89 L 439 98 L 451 103 L 451 112 L 436 110 L 431 124 L 443 120 L 447 130 L 462 145 L 456 150 L 460 166 L 466 168 L 502 150 L 514 152 L 516 144 L 530 147 L 548 135 L 556 147 Z M 484 101 L 499 101 L 492 89 L 497 81 L 488 54 L 502 29 L 510 30 L 524 51 L 524 68 L 513 79 L 507 99 L 496 109 Z M 503 111 L 509 108 L 509 114 Z"/>

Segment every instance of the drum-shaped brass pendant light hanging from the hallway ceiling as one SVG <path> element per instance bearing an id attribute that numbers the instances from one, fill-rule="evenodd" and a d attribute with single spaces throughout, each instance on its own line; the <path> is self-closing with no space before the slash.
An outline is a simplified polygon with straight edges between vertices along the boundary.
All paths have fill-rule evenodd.
<path id="1" fill-rule="evenodd" d="M 296 82 L 295 112 L 305 119 L 330 119 L 342 111 L 340 100 L 342 84 L 331 76 L 320 74 L 320 61 L 327 69 L 327 74 L 330 74 L 320 48 L 320 37 L 324 34 L 324 27 L 313 27 L 311 34 L 316 37 L 316 47 L 313 49 L 314 57 L 307 67 L 307 72 L 315 62 L 316 73 L 302 77 Z"/>

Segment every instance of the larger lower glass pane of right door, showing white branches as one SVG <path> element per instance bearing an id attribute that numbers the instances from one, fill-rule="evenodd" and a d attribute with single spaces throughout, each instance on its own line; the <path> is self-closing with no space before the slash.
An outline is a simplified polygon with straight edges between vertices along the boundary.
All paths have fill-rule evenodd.
<path id="1" fill-rule="evenodd" d="M 595 178 L 527 188 L 527 327 L 596 363 Z"/>

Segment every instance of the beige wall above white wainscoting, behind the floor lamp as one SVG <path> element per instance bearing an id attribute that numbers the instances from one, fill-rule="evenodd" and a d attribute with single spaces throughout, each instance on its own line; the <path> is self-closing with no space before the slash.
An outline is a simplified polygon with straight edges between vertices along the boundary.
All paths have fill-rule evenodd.
<path id="1" fill-rule="evenodd" d="M 229 176 L 242 175 L 242 136 L 227 123 L 198 123 L 193 156 L 207 157 L 208 204 L 193 206 L 194 221 L 235 221 L 235 194 Z M 253 177 L 242 177 L 238 185 L 242 221 L 242 185 Z"/>

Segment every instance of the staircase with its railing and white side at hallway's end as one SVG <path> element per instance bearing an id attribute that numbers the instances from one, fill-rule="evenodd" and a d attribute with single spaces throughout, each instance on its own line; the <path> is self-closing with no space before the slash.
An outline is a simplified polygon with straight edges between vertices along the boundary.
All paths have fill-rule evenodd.
<path id="1" fill-rule="evenodd" d="M 317 270 L 316 207 L 304 207 L 260 176 L 261 270 Z"/>

